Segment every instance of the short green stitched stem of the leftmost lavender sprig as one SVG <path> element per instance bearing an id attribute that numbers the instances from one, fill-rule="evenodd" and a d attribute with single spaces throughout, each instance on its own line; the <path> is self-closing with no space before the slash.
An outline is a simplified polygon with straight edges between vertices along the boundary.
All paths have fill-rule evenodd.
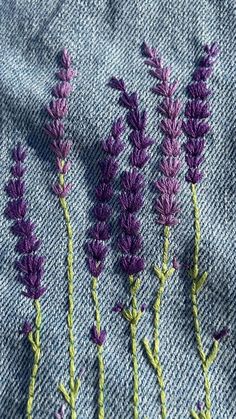
<path id="1" fill-rule="evenodd" d="M 41 306 L 40 306 L 39 300 L 34 301 L 34 307 L 36 311 L 35 332 L 30 332 L 28 334 L 28 339 L 31 343 L 32 351 L 34 353 L 34 364 L 33 364 L 31 377 L 30 377 L 29 393 L 28 393 L 28 400 L 27 400 L 27 407 L 26 407 L 27 419 L 32 419 L 35 384 L 36 384 L 36 378 L 37 378 L 40 356 L 41 356 L 40 328 L 41 328 L 41 323 L 42 323 L 42 317 L 41 317 Z"/>

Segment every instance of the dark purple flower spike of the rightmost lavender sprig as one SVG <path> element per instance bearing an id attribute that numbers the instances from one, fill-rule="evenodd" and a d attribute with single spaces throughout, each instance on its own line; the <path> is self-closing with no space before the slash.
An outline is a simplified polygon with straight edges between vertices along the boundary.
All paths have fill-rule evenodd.
<path id="1" fill-rule="evenodd" d="M 205 147 L 204 137 L 210 131 L 210 126 L 206 119 L 210 116 L 208 102 L 206 101 L 211 94 L 207 86 L 207 80 L 213 71 L 213 58 L 219 53 L 216 43 L 206 45 L 204 48 L 206 55 L 201 59 L 198 68 L 193 74 L 194 82 L 188 87 L 190 100 L 185 107 L 187 121 L 182 124 L 183 131 L 187 137 L 185 143 L 185 161 L 188 172 L 185 176 L 186 181 L 192 184 L 199 183 L 203 178 L 200 166 L 204 161 L 203 150 Z"/>

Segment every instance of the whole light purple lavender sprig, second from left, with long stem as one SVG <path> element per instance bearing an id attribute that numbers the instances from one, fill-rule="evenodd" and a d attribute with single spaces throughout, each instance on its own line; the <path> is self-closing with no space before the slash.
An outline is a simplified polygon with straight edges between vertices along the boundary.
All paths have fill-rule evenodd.
<path id="1" fill-rule="evenodd" d="M 71 419 L 76 419 L 76 399 L 80 388 L 80 376 L 75 374 L 75 338 L 73 330 L 74 322 L 74 243 L 73 230 L 70 221 L 70 211 L 67 202 L 68 194 L 72 188 L 70 183 L 65 182 L 65 175 L 71 168 L 71 162 L 67 159 L 72 147 L 72 142 L 64 139 L 65 126 L 63 118 L 68 113 L 67 99 L 72 91 L 71 80 L 76 72 L 71 67 L 71 57 L 67 50 L 63 50 L 61 56 L 62 68 L 57 72 L 60 82 L 53 88 L 53 96 L 55 97 L 49 106 L 47 112 L 52 119 L 46 124 L 45 132 L 53 139 L 51 148 L 56 156 L 56 167 L 58 173 L 58 181 L 53 185 L 53 191 L 58 197 L 61 205 L 65 227 L 67 232 L 67 278 L 68 278 L 68 315 L 67 325 L 69 333 L 69 390 L 63 383 L 58 386 L 59 391 L 64 396 L 65 401 L 71 409 Z"/>

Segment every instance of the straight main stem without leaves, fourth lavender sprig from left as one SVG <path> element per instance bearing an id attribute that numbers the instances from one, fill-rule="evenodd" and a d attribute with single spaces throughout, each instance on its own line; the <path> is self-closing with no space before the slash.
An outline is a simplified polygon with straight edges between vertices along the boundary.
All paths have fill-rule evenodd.
<path id="1" fill-rule="evenodd" d="M 138 288 L 132 286 L 133 277 L 130 277 L 131 283 L 131 307 L 132 307 L 132 321 L 130 322 L 131 334 L 131 350 L 133 360 L 133 417 L 138 419 L 138 405 L 139 405 L 139 376 L 138 376 L 138 358 L 137 358 L 137 325 L 138 325 L 138 306 L 137 306 L 137 291 Z"/>

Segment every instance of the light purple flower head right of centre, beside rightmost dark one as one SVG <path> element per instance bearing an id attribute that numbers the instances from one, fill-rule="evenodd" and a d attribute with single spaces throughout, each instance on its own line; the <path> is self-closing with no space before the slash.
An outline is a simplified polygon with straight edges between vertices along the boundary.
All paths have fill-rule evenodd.
<path id="1" fill-rule="evenodd" d="M 178 138 L 182 134 L 182 122 L 178 119 L 181 103 L 173 98 L 178 82 L 170 83 L 171 68 L 163 66 L 162 59 L 158 57 L 155 48 L 149 47 L 145 43 L 143 53 L 148 58 L 145 60 L 145 64 L 151 67 L 150 74 L 158 80 L 158 84 L 153 87 L 152 91 L 163 97 L 157 107 L 157 111 L 164 116 L 160 122 L 160 129 L 164 134 L 161 145 L 163 158 L 160 162 L 160 171 L 163 177 L 156 182 L 160 193 L 156 202 L 157 221 L 165 226 L 174 226 L 179 222 L 176 194 L 180 189 L 177 175 L 180 170 L 181 147 Z"/>

